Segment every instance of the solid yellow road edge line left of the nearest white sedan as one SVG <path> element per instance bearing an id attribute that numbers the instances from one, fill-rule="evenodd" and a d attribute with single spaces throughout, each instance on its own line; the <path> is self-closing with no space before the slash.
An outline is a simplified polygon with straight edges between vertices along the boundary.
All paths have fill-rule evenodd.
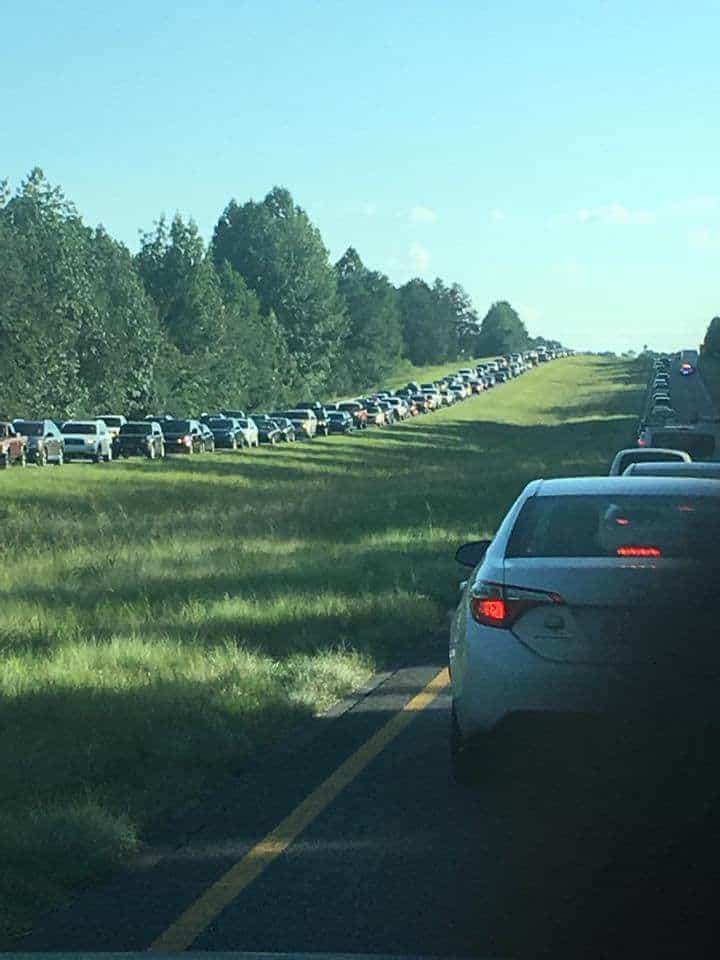
<path id="1" fill-rule="evenodd" d="M 327 780 L 309 794 L 273 831 L 267 834 L 242 860 L 232 866 L 193 903 L 164 933 L 153 941 L 150 950 L 179 953 L 206 930 L 242 891 L 250 886 L 270 864 L 325 810 L 385 747 L 410 724 L 415 716 L 433 702 L 450 682 L 447 669 L 391 717 L 355 753 L 351 754 Z"/>

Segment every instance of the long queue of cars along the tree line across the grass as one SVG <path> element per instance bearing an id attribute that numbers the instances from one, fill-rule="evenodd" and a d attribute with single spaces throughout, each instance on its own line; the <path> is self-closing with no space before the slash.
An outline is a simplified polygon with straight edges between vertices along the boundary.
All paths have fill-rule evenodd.
<path id="1" fill-rule="evenodd" d="M 306 400 L 292 408 L 252 415 L 244 410 L 224 409 L 196 418 L 162 413 L 128 420 L 120 414 L 106 413 L 64 421 L 0 421 L 0 468 L 13 463 L 24 466 L 27 462 L 41 467 L 70 460 L 107 463 L 132 456 L 162 460 L 170 454 L 191 456 L 353 434 L 465 400 L 569 352 L 539 348 L 464 367 L 429 383 L 408 383 L 400 390 L 383 390 L 333 403 Z"/>

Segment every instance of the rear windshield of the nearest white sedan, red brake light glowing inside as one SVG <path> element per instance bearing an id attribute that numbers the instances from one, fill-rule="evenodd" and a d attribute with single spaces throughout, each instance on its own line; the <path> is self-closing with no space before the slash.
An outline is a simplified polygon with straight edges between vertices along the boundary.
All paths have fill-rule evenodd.
<path id="1" fill-rule="evenodd" d="M 720 557 L 717 498 L 588 495 L 532 497 L 507 557 Z"/>

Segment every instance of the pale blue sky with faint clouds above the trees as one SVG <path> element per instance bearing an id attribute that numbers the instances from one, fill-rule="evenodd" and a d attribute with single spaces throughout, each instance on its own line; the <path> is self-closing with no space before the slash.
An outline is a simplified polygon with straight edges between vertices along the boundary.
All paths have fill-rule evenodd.
<path id="1" fill-rule="evenodd" d="M 716 0 L 35 0 L 2 24 L 0 179 L 40 166 L 133 250 L 282 185 L 333 259 L 576 349 L 693 346 L 720 313 Z"/>

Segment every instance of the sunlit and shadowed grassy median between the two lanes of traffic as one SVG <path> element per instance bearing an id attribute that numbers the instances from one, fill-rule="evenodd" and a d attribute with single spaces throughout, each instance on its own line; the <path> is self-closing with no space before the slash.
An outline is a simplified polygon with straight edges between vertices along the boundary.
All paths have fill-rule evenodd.
<path id="1" fill-rule="evenodd" d="M 643 387 L 575 357 L 368 436 L 4 472 L 0 931 L 437 633 L 455 547 L 605 472 Z"/>

